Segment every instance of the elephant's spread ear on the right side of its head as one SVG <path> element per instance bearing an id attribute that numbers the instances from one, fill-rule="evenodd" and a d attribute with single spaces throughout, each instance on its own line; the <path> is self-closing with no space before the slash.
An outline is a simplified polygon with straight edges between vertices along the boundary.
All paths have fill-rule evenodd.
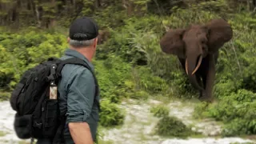
<path id="1" fill-rule="evenodd" d="M 233 37 L 233 30 L 224 19 L 214 19 L 206 24 L 208 28 L 208 45 L 210 52 L 216 52 L 225 42 Z"/>

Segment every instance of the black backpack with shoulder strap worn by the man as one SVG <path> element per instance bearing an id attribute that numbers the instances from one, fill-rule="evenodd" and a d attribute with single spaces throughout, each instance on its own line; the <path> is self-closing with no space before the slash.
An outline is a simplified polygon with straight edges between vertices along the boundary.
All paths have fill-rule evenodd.
<path id="1" fill-rule="evenodd" d="M 90 66 L 79 58 L 48 58 L 22 75 L 20 82 L 16 85 L 10 97 L 10 106 L 16 111 L 14 117 L 14 130 L 18 138 L 50 138 L 53 143 L 64 143 L 62 130 L 66 117 L 60 115 L 58 109 L 58 98 L 50 98 L 50 90 L 57 86 L 61 78 L 61 71 L 66 64 Z M 94 75 L 93 71 L 90 70 Z M 98 82 L 94 76 L 96 91 L 98 95 Z M 56 87 L 55 87 L 56 88 Z M 58 91 L 55 90 L 56 95 Z M 94 98 L 94 102 L 99 102 Z"/>

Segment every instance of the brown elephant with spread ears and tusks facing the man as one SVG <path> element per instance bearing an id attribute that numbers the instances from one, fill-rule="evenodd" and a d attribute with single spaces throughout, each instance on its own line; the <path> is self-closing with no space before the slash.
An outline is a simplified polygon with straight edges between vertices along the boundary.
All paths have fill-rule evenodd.
<path id="1" fill-rule="evenodd" d="M 219 49 L 232 37 L 230 24 L 215 18 L 201 25 L 168 30 L 160 39 L 160 47 L 163 53 L 178 57 L 190 83 L 199 91 L 199 100 L 212 102 Z"/>

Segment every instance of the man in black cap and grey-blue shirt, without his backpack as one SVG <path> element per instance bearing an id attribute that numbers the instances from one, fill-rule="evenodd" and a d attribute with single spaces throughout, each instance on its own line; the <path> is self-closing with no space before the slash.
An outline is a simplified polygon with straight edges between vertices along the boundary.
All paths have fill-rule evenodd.
<path id="1" fill-rule="evenodd" d="M 70 26 L 70 49 L 61 59 L 81 58 L 94 70 L 91 60 L 98 42 L 98 26 L 90 18 L 78 18 Z M 58 83 L 59 107 L 66 114 L 63 138 L 66 144 L 93 144 L 98 127 L 98 106 L 94 102 L 94 77 L 84 66 L 66 64 Z M 99 101 L 99 96 L 96 97 Z M 42 142 L 38 142 L 42 143 Z"/>

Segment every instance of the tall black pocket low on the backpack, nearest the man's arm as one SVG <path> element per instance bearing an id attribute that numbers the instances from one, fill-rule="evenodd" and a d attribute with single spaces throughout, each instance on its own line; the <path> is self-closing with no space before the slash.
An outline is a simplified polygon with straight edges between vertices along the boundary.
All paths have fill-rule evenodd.
<path id="1" fill-rule="evenodd" d="M 57 99 L 47 99 L 45 103 L 43 134 L 53 137 L 59 126 L 59 109 Z"/>

